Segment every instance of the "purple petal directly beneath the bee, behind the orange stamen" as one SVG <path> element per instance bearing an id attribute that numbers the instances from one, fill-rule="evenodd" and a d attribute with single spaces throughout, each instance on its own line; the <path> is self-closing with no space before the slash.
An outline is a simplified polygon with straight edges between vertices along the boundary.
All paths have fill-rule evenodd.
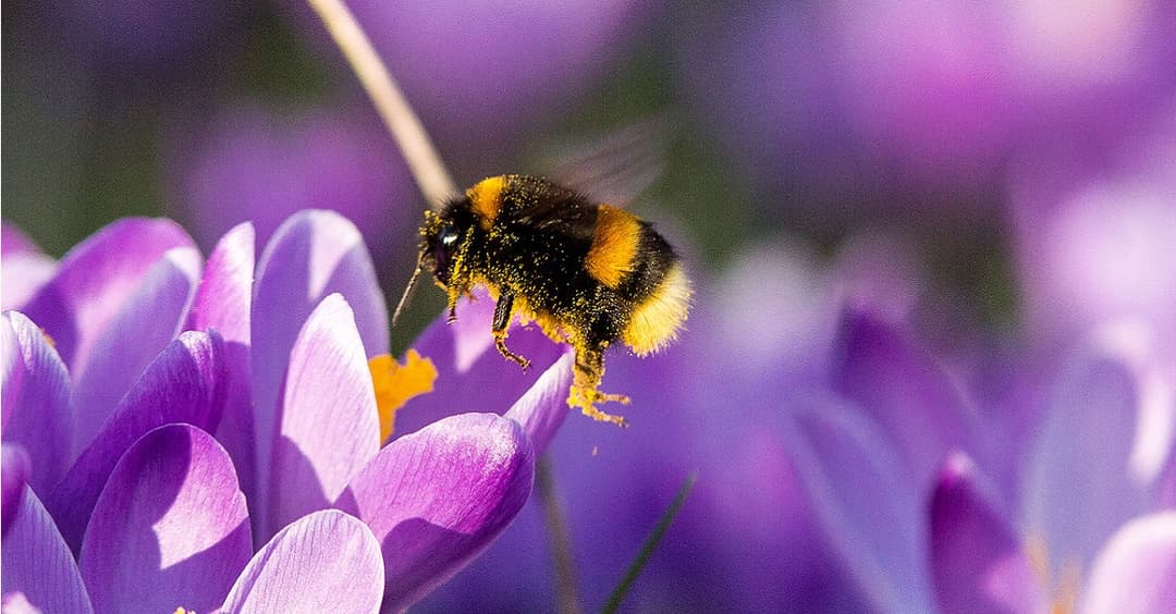
<path id="1" fill-rule="evenodd" d="M 457 303 L 457 321 L 437 318 L 413 347 L 433 361 L 437 369 L 434 391 L 409 400 L 396 413 L 396 433 L 402 436 L 437 420 L 466 412 L 503 414 L 535 382 L 536 375 L 559 360 L 564 347 L 543 335 L 535 326 L 513 325 L 507 345 L 530 360 L 523 372 L 519 365 L 494 349 L 490 320 L 494 301 L 485 289 L 476 300 Z M 541 371 L 542 369 L 542 371 Z"/>

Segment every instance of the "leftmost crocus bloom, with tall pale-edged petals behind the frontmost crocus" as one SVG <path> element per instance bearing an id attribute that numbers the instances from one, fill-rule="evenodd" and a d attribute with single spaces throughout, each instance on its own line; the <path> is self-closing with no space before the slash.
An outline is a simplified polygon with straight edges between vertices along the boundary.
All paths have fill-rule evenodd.
<path id="1" fill-rule="evenodd" d="M 73 548 L 131 443 L 166 422 L 220 420 L 220 336 L 176 336 L 199 267 L 174 223 L 123 220 L 71 251 L 21 312 L 5 313 L 4 440 L 28 453 L 28 482 Z"/>

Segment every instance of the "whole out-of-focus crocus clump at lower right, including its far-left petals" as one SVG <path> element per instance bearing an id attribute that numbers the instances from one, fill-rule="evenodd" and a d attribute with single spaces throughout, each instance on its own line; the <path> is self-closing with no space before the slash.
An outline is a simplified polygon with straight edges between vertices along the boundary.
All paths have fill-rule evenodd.
<path id="1" fill-rule="evenodd" d="M 834 578 L 880 612 L 1073 610 L 1081 595 L 1125 603 L 1132 590 L 1141 610 L 1170 603 L 1170 582 L 1148 585 L 1156 567 L 1125 565 L 1122 543 L 1150 534 L 1135 547 L 1160 568 L 1176 559 L 1171 520 L 1149 516 L 1163 505 L 1176 396 L 1155 355 L 1091 343 L 1037 369 L 1037 393 L 996 413 L 973 408 L 983 394 L 909 333 L 850 312 L 831 380 L 842 400 L 801 402 L 784 431 Z M 1096 562 L 1104 547 L 1118 562 Z"/>

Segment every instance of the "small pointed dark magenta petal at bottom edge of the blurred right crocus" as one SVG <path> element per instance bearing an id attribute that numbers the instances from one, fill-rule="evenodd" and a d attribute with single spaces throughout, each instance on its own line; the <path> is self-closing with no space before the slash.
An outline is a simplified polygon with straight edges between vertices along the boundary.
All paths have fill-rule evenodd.
<path id="1" fill-rule="evenodd" d="M 977 469 L 953 455 L 931 499 L 931 573 L 942 612 L 1043 612 L 1029 559 L 1009 520 L 980 485 Z"/>

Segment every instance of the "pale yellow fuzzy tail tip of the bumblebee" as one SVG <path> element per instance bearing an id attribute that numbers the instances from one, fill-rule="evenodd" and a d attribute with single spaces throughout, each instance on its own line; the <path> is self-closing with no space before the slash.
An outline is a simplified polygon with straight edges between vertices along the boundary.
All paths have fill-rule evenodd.
<path id="1" fill-rule="evenodd" d="M 653 294 L 633 309 L 621 341 L 640 356 L 657 352 L 677 336 L 690 311 L 690 280 L 673 265 Z"/>

